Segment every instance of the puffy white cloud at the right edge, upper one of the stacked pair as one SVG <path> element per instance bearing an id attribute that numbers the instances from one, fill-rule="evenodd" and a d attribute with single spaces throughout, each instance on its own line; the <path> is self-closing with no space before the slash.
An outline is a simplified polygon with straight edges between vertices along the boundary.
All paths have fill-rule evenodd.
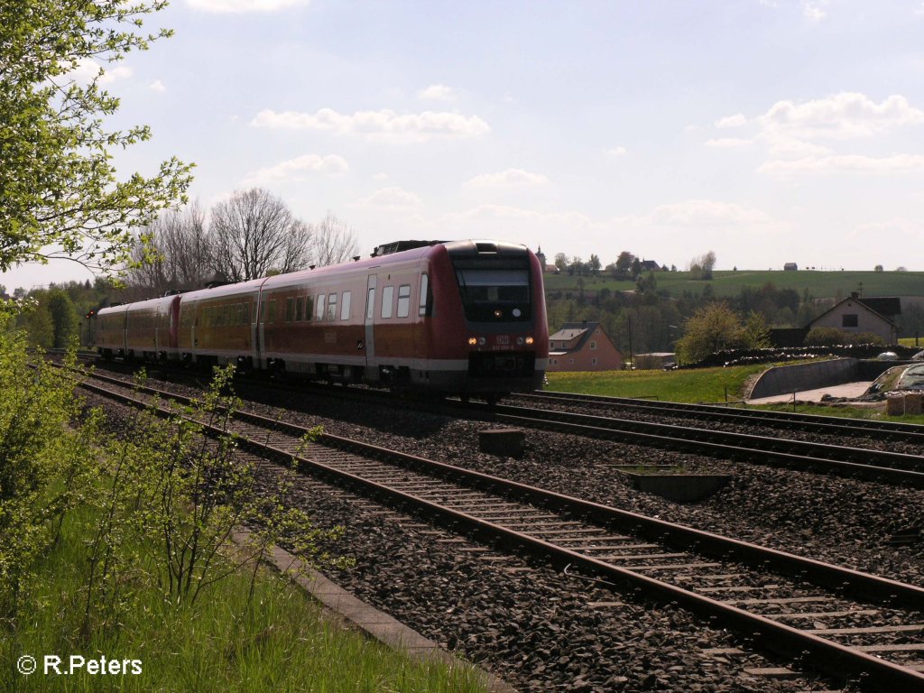
<path id="1" fill-rule="evenodd" d="M 849 140 L 924 123 L 924 111 L 894 94 L 875 103 L 865 94 L 843 91 L 805 103 L 780 101 L 758 118 L 764 131 L 798 140 Z"/>

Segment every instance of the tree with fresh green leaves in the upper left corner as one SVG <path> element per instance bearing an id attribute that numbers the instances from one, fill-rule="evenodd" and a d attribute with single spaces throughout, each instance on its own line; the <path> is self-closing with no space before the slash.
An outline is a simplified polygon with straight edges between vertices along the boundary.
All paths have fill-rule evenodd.
<path id="1" fill-rule="evenodd" d="M 105 128 L 119 101 L 101 90 L 104 67 L 145 50 L 163 0 L 0 4 L 0 271 L 64 257 L 102 270 L 128 258 L 132 229 L 183 198 L 188 164 L 118 180 L 110 150 L 148 140 L 146 126 Z M 89 83 L 75 68 L 98 71 Z"/>

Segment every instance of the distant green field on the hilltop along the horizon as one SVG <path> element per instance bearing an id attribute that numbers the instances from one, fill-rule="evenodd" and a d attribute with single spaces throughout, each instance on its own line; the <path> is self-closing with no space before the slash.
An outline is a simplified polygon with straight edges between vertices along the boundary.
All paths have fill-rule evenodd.
<path id="1" fill-rule="evenodd" d="M 672 297 L 681 296 L 685 291 L 701 294 L 706 286 L 711 286 L 717 298 L 737 296 L 742 287 L 760 287 L 772 283 L 778 289 L 795 289 L 799 295 L 808 289 L 813 298 L 846 297 L 850 292 L 859 290 L 865 296 L 924 296 L 924 272 L 818 272 L 803 271 L 755 271 L 715 272 L 711 281 L 693 280 L 687 272 L 657 272 L 654 276 L 658 290 L 664 290 Z M 635 288 L 633 281 L 616 281 L 601 271 L 596 277 L 578 277 L 568 274 L 546 274 L 545 290 L 572 291 L 580 289 L 579 280 L 583 280 L 584 291 L 598 292 L 602 288 L 611 291 L 631 291 Z"/>

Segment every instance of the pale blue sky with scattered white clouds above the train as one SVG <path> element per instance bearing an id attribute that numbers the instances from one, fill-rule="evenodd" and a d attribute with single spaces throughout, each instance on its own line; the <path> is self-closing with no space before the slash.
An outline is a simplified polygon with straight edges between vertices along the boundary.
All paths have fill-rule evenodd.
<path id="1" fill-rule="evenodd" d="M 924 2 L 174 0 L 110 68 L 128 175 L 398 238 L 924 269 Z M 86 278 L 55 264 L 7 288 Z"/>

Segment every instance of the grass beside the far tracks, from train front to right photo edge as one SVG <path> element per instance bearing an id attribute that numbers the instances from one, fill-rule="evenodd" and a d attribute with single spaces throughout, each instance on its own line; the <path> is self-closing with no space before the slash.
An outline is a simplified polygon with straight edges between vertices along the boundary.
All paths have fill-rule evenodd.
<path id="1" fill-rule="evenodd" d="M 547 390 L 615 397 L 650 397 L 665 402 L 723 404 L 740 401 L 748 379 L 768 365 L 691 369 L 689 371 L 605 371 L 548 373 Z M 727 399 L 726 399 L 727 393 Z M 762 405 L 762 409 L 793 411 L 792 404 Z M 880 409 L 797 405 L 797 412 L 850 419 L 886 419 Z M 924 424 L 924 416 L 888 417 L 903 423 Z"/>

